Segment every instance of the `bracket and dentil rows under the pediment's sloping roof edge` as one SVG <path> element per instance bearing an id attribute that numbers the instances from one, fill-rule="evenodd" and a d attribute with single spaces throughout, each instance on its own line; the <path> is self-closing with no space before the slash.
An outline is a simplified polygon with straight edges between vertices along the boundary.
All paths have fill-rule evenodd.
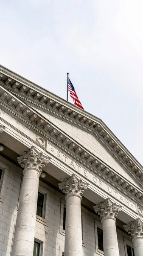
<path id="1" fill-rule="evenodd" d="M 103 129 L 101 124 L 98 124 L 96 121 L 93 122 L 93 120 L 87 119 L 87 117 L 79 115 L 75 111 L 62 106 L 57 102 L 53 102 L 53 100 L 42 96 L 40 93 L 36 93 L 34 96 L 32 96 L 31 89 L 29 89 L 25 94 L 24 90 L 27 90 L 27 87 L 23 85 L 18 89 L 17 86 L 15 87 L 13 85 L 11 86 L 10 84 L 4 84 L 3 81 L 0 81 L 0 84 L 11 91 L 11 93 L 13 93 L 15 96 L 22 99 L 22 101 L 28 102 L 28 105 L 34 105 L 34 107 L 39 108 L 46 113 L 50 113 L 59 119 L 64 119 L 64 121 L 70 124 L 72 123 L 72 125 L 78 126 L 82 130 L 93 134 L 101 145 L 106 148 L 109 154 L 111 154 L 115 160 L 118 160 L 118 163 L 122 166 L 122 168 L 124 168 L 128 174 L 133 177 L 140 184 L 140 186 L 142 186 L 142 182 L 140 182 L 140 180 L 143 180 L 143 170 L 141 171 L 140 168 L 136 166 L 135 163 L 130 159 L 130 157 L 127 156 L 124 151 L 122 151 L 122 148 L 117 145 L 115 140 L 113 140 L 105 128 Z M 42 97 L 39 99 L 37 95 Z M 45 102 L 47 99 L 48 101 Z"/>

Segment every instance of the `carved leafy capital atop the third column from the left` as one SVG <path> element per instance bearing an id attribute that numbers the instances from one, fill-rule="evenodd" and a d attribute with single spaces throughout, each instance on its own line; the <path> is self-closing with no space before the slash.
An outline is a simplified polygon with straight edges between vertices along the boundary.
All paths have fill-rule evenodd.
<path id="1" fill-rule="evenodd" d="M 93 208 L 100 215 L 100 219 L 106 217 L 116 218 L 121 211 L 121 206 L 113 203 L 110 198 L 107 198 L 103 203 L 93 206 Z"/>

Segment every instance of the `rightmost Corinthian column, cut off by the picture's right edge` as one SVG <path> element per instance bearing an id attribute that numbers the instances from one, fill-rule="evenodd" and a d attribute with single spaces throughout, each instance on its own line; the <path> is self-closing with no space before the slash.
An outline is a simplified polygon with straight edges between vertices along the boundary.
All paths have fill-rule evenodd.
<path id="1" fill-rule="evenodd" d="M 138 218 L 123 227 L 132 239 L 135 256 L 143 256 L 143 221 Z"/>

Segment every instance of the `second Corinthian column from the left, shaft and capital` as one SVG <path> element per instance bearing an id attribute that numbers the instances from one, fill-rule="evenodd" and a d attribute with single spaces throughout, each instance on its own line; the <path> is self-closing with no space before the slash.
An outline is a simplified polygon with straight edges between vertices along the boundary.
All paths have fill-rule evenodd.
<path id="1" fill-rule="evenodd" d="M 81 199 L 88 184 L 72 175 L 58 185 L 66 200 L 64 256 L 82 256 Z"/>

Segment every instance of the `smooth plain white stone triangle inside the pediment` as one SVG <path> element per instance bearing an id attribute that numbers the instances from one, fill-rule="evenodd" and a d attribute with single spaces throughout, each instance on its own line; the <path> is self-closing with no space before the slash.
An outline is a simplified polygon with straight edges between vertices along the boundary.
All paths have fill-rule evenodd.
<path id="1" fill-rule="evenodd" d="M 36 108 L 34 109 L 36 110 Z M 53 123 L 58 128 L 60 128 L 64 133 L 70 136 L 74 141 L 76 141 L 81 146 L 86 148 L 91 154 L 96 156 L 103 163 L 107 164 L 107 166 L 110 166 L 111 169 L 115 170 L 117 175 L 118 174 L 121 175 L 130 183 L 140 188 L 140 186 L 135 182 L 135 180 L 132 179 L 132 177 L 118 164 L 118 162 L 109 154 L 109 152 L 98 142 L 98 140 L 92 134 L 89 134 L 78 127 L 70 125 L 69 123 L 62 121 L 61 119 L 58 119 L 54 116 L 50 116 L 48 113 L 44 113 L 40 110 L 36 110 L 36 111 L 38 111 L 51 123 Z"/>

